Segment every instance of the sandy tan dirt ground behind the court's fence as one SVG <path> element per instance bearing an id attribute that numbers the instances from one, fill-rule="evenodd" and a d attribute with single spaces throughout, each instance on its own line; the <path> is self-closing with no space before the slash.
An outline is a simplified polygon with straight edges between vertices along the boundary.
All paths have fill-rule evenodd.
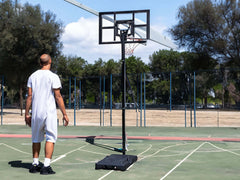
<path id="1" fill-rule="evenodd" d="M 24 116 L 21 116 L 20 109 L 4 109 L 1 116 L 1 123 L 24 125 Z M 122 110 L 113 109 L 112 118 L 110 110 L 100 109 L 67 109 L 70 118 L 70 125 L 78 126 L 121 126 Z M 74 115 L 75 114 L 75 115 Z M 75 117 L 75 118 L 74 118 Z M 101 118 L 100 118 L 101 117 Z M 195 118 L 194 118 L 195 117 Z M 136 110 L 126 110 L 126 126 L 165 126 L 165 127 L 240 127 L 240 111 L 184 111 L 184 110 L 146 110 L 145 112 Z M 62 123 L 62 115 L 58 110 L 59 125 Z M 74 121 L 75 119 L 75 121 Z M 192 123 L 191 123 L 192 122 Z"/>

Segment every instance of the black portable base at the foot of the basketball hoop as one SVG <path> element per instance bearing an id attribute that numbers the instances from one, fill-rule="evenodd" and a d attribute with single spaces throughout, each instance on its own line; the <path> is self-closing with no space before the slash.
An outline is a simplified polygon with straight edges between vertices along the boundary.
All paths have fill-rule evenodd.
<path id="1" fill-rule="evenodd" d="M 137 161 L 134 155 L 112 154 L 95 164 L 95 169 L 110 169 L 125 171 L 130 165 Z"/>

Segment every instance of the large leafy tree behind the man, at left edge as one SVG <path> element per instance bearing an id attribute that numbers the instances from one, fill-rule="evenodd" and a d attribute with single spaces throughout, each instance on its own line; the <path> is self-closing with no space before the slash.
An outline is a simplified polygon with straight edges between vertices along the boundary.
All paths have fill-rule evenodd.
<path id="1" fill-rule="evenodd" d="M 28 76 L 38 68 L 42 53 L 53 58 L 59 54 L 61 33 L 55 15 L 43 13 L 40 6 L 0 2 L 0 72 L 7 86 L 19 92 L 21 109 Z"/>

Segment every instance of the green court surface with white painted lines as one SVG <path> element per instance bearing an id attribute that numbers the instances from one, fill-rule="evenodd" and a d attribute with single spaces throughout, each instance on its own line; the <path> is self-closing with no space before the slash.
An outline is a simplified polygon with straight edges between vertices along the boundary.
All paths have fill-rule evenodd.
<path id="1" fill-rule="evenodd" d="M 127 127 L 127 136 L 240 138 L 239 128 Z M 31 134 L 25 126 L 0 126 L 0 134 Z M 121 154 L 119 139 L 95 139 L 89 144 L 80 136 L 121 136 L 120 127 L 59 127 L 52 158 L 55 175 L 30 174 L 31 139 L 0 138 L 0 179 L 140 179 L 202 180 L 240 179 L 240 142 L 128 139 L 126 154 L 138 161 L 126 171 L 95 170 L 95 163 L 110 154 Z M 101 145 L 101 146 L 99 146 Z M 42 144 L 44 147 L 44 144 Z M 44 160 L 42 149 L 40 161 Z"/>

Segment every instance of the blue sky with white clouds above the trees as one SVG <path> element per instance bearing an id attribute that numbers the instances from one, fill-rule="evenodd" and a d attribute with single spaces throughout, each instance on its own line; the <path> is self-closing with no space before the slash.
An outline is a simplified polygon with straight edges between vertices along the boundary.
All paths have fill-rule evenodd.
<path id="1" fill-rule="evenodd" d="M 181 6 L 191 0 L 76 0 L 98 12 L 150 10 L 150 26 L 163 36 L 172 40 L 167 30 L 177 24 L 177 13 Z M 61 37 L 63 43 L 62 53 L 65 56 L 77 56 L 93 64 L 99 58 L 103 61 L 121 59 L 120 45 L 98 44 L 98 17 L 76 7 L 64 0 L 18 0 L 18 3 L 40 5 L 44 12 L 51 11 L 56 20 L 64 25 Z M 160 49 L 168 49 L 158 43 L 148 41 L 147 44 L 138 45 L 134 56 L 140 57 L 149 63 L 149 56 Z M 178 49 L 175 49 L 178 50 Z"/>

